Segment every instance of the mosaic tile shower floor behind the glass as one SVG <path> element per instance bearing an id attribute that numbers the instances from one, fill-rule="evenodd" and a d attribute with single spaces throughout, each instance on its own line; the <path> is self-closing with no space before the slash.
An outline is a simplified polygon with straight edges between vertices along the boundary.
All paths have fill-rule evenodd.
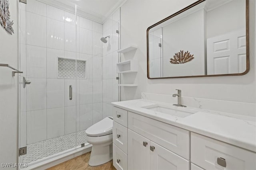
<path id="1" fill-rule="evenodd" d="M 36 160 L 40 160 L 42 158 L 63 152 L 65 150 L 72 149 L 75 146 L 81 146 L 82 143 L 87 143 L 85 130 L 52 139 L 47 139 L 37 143 L 32 143 L 27 145 L 27 154 L 21 157 L 21 162 L 31 163 Z"/>

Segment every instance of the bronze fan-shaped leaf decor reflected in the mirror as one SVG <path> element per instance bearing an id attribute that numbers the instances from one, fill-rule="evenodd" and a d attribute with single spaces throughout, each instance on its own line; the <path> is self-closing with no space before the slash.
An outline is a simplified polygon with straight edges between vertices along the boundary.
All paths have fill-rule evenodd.
<path id="1" fill-rule="evenodd" d="M 194 55 L 191 55 L 190 52 L 186 52 L 185 53 L 183 52 L 183 50 L 178 53 L 175 53 L 175 55 L 173 56 L 172 59 L 170 59 L 170 63 L 172 64 L 182 64 L 182 63 L 187 63 L 191 60 L 194 59 L 193 57 Z"/>

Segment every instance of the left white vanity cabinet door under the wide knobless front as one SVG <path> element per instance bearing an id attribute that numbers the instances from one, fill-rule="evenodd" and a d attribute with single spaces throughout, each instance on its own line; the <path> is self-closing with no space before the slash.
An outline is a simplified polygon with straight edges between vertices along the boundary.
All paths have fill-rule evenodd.
<path id="1" fill-rule="evenodd" d="M 128 170 L 150 169 L 150 140 L 128 129 Z"/>

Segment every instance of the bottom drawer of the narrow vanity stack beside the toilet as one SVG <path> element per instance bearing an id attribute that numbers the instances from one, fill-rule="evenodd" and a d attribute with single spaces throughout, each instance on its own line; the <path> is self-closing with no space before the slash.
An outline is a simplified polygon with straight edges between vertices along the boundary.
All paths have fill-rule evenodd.
<path id="1" fill-rule="evenodd" d="M 127 170 L 127 154 L 113 144 L 113 165 L 117 170 Z"/>

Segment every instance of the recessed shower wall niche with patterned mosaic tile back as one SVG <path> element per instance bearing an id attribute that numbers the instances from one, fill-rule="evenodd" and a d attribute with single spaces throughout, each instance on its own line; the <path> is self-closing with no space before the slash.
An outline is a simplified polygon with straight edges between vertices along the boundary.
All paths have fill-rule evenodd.
<path id="1" fill-rule="evenodd" d="M 86 61 L 58 57 L 58 78 L 86 79 Z"/>

